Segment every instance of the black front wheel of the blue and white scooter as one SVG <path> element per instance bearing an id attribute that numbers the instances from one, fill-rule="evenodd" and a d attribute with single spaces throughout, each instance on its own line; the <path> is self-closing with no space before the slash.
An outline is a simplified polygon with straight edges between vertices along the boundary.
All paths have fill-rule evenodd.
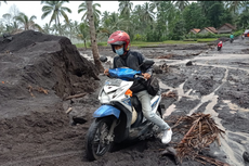
<path id="1" fill-rule="evenodd" d="M 112 123 L 115 117 L 96 118 L 91 124 L 86 139 L 86 153 L 89 161 L 95 161 L 103 156 L 113 145 L 107 139 Z"/>

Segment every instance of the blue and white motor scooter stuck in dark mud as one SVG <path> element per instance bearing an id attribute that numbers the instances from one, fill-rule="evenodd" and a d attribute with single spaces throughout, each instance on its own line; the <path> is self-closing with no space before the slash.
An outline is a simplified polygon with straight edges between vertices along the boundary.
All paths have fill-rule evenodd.
<path id="1" fill-rule="evenodd" d="M 102 62 L 107 58 L 102 56 Z M 146 60 L 142 65 L 152 66 L 154 61 Z M 114 143 L 144 140 L 158 135 L 159 127 L 147 120 L 142 105 L 130 87 L 134 79 L 143 79 L 141 71 L 131 68 L 109 69 L 110 79 L 105 81 L 99 93 L 101 106 L 93 114 L 86 138 L 86 153 L 89 161 L 95 161 L 106 154 Z M 161 94 L 150 98 L 152 110 L 161 117 Z"/>

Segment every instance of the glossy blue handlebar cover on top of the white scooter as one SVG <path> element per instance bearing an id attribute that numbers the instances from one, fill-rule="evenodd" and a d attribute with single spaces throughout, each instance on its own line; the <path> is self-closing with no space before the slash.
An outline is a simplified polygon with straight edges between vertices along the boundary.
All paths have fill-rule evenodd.
<path id="1" fill-rule="evenodd" d="M 122 80 L 134 79 L 134 75 L 141 74 L 141 71 L 134 71 L 131 68 L 113 68 L 109 69 L 109 75 L 112 77 L 120 78 Z"/>

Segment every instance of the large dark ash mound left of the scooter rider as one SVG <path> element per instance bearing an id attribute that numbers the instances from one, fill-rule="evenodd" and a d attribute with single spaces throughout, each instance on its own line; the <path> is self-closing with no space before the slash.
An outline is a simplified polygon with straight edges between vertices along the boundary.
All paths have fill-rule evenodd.
<path id="1" fill-rule="evenodd" d="M 66 37 L 26 30 L 0 37 L 0 115 L 51 111 L 62 99 L 93 92 L 99 71 Z"/>

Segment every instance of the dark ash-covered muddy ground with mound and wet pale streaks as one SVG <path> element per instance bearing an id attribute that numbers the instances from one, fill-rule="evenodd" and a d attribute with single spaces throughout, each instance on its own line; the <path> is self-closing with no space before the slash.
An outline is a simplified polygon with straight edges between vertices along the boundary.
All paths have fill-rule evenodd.
<path id="1" fill-rule="evenodd" d="M 175 165 L 171 156 L 160 154 L 167 145 L 157 138 L 118 144 L 102 159 L 88 162 L 84 136 L 106 79 L 92 65 L 91 50 L 78 52 L 67 39 L 39 33 L 23 34 L 23 46 L 16 39 L 0 44 L 1 166 Z M 194 112 L 211 114 L 225 135 L 221 146 L 212 143 L 202 153 L 232 166 L 249 165 L 243 157 L 249 152 L 248 47 L 249 40 L 239 38 L 224 42 L 220 52 L 207 43 L 131 47 L 161 66 L 155 71 L 162 92 L 178 93 L 161 101 L 166 122 L 173 125 L 172 117 Z M 109 48 L 99 52 L 110 61 L 115 55 Z M 67 100 L 74 94 L 83 97 Z M 169 145 L 179 138 L 173 129 Z M 182 165 L 204 164 L 184 159 Z"/>

